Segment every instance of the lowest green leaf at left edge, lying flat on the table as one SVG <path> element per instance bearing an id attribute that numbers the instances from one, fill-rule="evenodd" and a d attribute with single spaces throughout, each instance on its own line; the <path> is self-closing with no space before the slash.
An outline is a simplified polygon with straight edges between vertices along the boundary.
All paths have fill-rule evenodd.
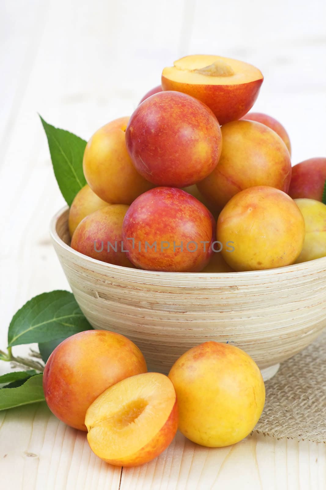
<path id="1" fill-rule="evenodd" d="M 27 379 L 27 381 L 18 388 L 1 388 L 0 410 L 43 401 L 44 393 L 42 378 L 43 374 L 37 374 L 36 376 Z"/>

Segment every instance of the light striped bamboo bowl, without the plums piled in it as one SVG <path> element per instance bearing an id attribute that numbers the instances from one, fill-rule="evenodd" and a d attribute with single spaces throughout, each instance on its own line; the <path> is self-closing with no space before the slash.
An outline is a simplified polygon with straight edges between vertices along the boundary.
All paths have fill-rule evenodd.
<path id="1" fill-rule="evenodd" d="M 94 328 L 114 330 L 167 373 L 186 350 L 208 340 L 244 349 L 265 380 L 326 326 L 326 257 L 279 269 L 175 273 L 129 269 L 73 250 L 68 208 L 51 238 L 73 294 Z"/>

